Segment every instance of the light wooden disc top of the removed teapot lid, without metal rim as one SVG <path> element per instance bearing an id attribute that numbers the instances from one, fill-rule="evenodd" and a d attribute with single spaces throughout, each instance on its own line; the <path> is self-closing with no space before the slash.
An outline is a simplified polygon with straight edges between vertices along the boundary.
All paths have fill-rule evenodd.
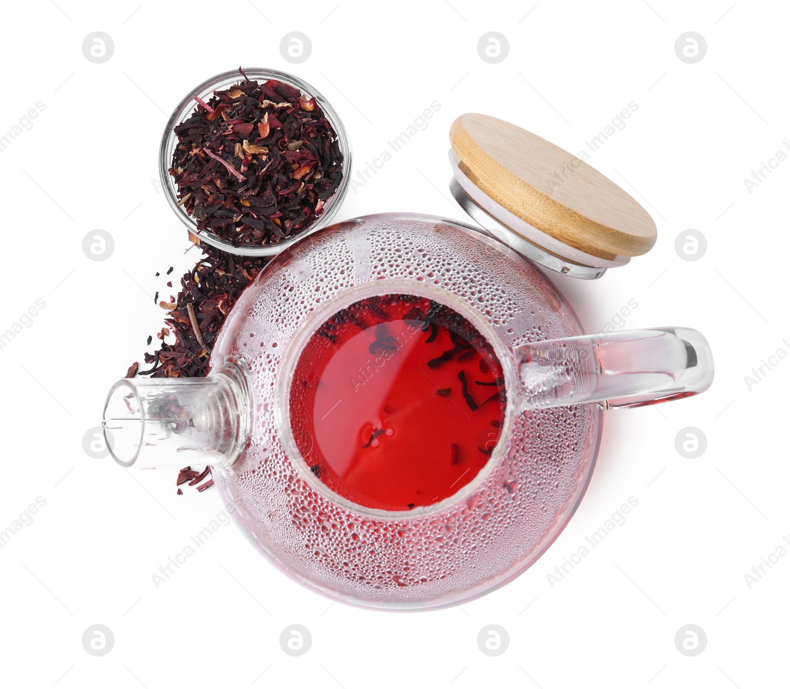
<path id="1" fill-rule="evenodd" d="M 450 127 L 461 171 L 532 227 L 599 258 L 639 256 L 656 243 L 647 211 L 611 179 L 510 122 L 470 113 Z"/>

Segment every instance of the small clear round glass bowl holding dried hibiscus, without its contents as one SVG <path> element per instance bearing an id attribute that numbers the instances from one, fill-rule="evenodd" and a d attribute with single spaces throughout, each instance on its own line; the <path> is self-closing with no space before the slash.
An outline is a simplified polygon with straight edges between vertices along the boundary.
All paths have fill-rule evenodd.
<path id="1" fill-rule="evenodd" d="M 281 242 L 265 244 L 263 246 L 244 245 L 242 247 L 235 247 L 226 239 L 220 239 L 220 237 L 216 236 L 209 229 L 205 229 L 198 234 L 198 221 L 190 216 L 183 206 L 179 205 L 178 186 L 176 186 L 175 179 L 173 179 L 169 172 L 173 160 L 173 152 L 175 151 L 175 146 L 178 145 L 179 141 L 179 137 L 175 135 L 173 127 L 187 119 L 192 114 L 195 107 L 198 106 L 198 101 L 194 100 L 194 96 L 198 96 L 198 98 L 203 101 L 208 101 L 209 98 L 213 96 L 215 91 L 221 91 L 226 88 L 230 88 L 232 85 L 238 84 L 239 80 L 242 78 L 239 70 L 223 72 L 221 74 L 217 74 L 216 77 L 211 77 L 207 81 L 204 81 L 197 88 L 194 88 L 189 93 L 187 93 L 183 100 L 175 107 L 170 119 L 167 120 L 167 126 L 164 128 L 164 134 L 162 134 L 162 141 L 159 147 L 159 176 L 162 183 L 162 188 L 164 189 L 165 198 L 167 198 L 167 202 L 170 204 L 171 209 L 173 209 L 173 213 L 178 216 L 182 224 L 184 224 L 192 234 L 197 235 L 202 241 L 209 244 L 210 246 L 223 251 L 228 251 L 230 254 L 236 254 L 239 256 L 273 256 L 274 254 L 279 254 L 280 251 L 290 247 L 299 239 L 302 239 L 307 235 L 311 235 L 314 232 L 318 232 L 318 230 L 325 228 L 332 222 L 333 217 L 337 213 L 337 210 L 340 209 L 340 205 L 343 203 L 345 194 L 348 191 L 348 180 L 351 177 L 350 171 L 352 168 L 352 151 L 351 145 L 348 143 L 348 136 L 346 135 L 345 127 L 343 126 L 343 122 L 341 122 L 340 118 L 337 116 L 337 112 L 324 98 L 324 96 L 322 96 L 322 94 L 319 93 L 315 88 L 307 84 L 307 82 L 302 81 L 291 74 L 286 74 L 277 70 L 258 69 L 254 67 L 245 67 L 243 70 L 247 77 L 249 77 L 250 81 L 266 81 L 268 79 L 276 79 L 277 81 L 283 81 L 285 84 L 288 84 L 294 88 L 299 88 L 303 94 L 312 96 L 315 99 L 315 102 L 318 104 L 318 107 L 320 107 L 324 112 L 326 119 L 329 120 L 329 124 L 332 125 L 333 130 L 335 130 L 337 133 L 337 141 L 340 145 L 340 152 L 343 153 L 343 179 L 340 180 L 340 185 L 337 187 L 337 190 L 335 190 L 335 193 L 329 197 L 326 204 L 324 205 L 323 213 L 318 216 L 314 223 L 308 228 L 299 230 L 299 232 L 297 232 L 294 236 L 283 239 Z"/>

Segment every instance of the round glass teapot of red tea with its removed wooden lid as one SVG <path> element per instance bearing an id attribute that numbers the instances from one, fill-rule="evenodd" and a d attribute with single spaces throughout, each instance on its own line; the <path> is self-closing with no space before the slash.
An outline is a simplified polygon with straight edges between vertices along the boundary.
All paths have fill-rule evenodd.
<path id="1" fill-rule="evenodd" d="M 480 227 L 382 213 L 310 234 L 243 292 L 207 378 L 122 379 L 105 407 L 119 464 L 211 465 L 277 567 L 369 608 L 509 582 L 574 514 L 605 412 L 713 380 L 697 331 L 585 335 L 538 267 L 593 279 L 645 253 L 633 198 L 494 118 L 450 141 Z"/>

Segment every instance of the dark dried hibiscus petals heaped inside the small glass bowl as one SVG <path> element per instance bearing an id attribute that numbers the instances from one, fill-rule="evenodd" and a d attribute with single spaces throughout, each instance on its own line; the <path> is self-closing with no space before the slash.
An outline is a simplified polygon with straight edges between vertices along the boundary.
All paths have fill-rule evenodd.
<path id="1" fill-rule="evenodd" d="M 170 174 L 179 205 L 235 247 L 307 229 L 343 179 L 333 126 L 312 96 L 269 79 L 215 91 L 174 127 Z"/>

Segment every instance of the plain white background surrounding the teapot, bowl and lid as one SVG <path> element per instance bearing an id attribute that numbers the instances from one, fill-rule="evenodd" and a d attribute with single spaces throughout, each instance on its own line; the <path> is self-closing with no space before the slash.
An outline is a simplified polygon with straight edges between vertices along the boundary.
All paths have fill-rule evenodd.
<path id="1" fill-rule="evenodd" d="M 751 194 L 743 179 L 790 139 L 787 7 L 336 4 L 4 6 L 0 130 L 37 101 L 46 109 L 0 158 L 0 330 L 36 299 L 46 307 L 0 351 L 0 529 L 36 496 L 46 506 L 0 549 L 0 683 L 747 689 L 785 682 L 790 557 L 751 589 L 743 575 L 790 537 L 780 442 L 790 361 L 751 391 L 744 376 L 777 348 L 790 352 L 782 342 L 790 338 L 790 163 Z M 95 31 L 115 43 L 103 64 L 81 51 Z M 299 65 L 280 55 L 280 39 L 292 31 L 312 42 Z M 488 31 L 510 42 L 498 64 L 477 53 Z M 696 64 L 675 55 L 687 31 L 707 42 Z M 626 104 L 638 104 L 589 163 L 653 215 L 656 247 L 601 280 L 563 280 L 560 288 L 590 332 L 629 299 L 639 306 L 627 328 L 700 329 L 713 347 L 716 381 L 699 397 L 608 414 L 596 472 L 569 527 L 521 578 L 463 608 L 394 614 L 332 604 L 270 567 L 235 525 L 156 589 L 152 573 L 222 509 L 216 489 L 179 497 L 172 469 L 127 473 L 82 450 L 108 386 L 160 329 L 152 296 L 171 291 L 154 273 L 174 265 L 178 284 L 197 258 L 183 254 L 186 232 L 156 185 L 164 122 L 190 88 L 239 64 L 315 85 L 340 113 L 359 163 L 378 156 L 431 101 L 441 104 L 427 130 L 349 194 L 339 219 L 397 210 L 463 218 L 446 188 L 447 132 L 463 112 L 510 119 L 577 153 Z M 115 239 L 103 262 L 81 249 L 96 228 Z M 675 237 L 688 228 L 708 243 L 696 262 L 675 253 Z M 693 460 L 675 450 L 687 426 L 708 442 Z M 552 589 L 547 574 L 630 495 L 639 504 L 626 523 Z M 96 623 L 115 634 L 104 657 L 81 643 Z M 280 631 L 291 623 L 312 634 L 303 657 L 280 649 Z M 510 634 L 501 656 L 477 647 L 488 623 Z M 675 632 L 688 623 L 707 634 L 697 657 L 675 648 Z"/>

